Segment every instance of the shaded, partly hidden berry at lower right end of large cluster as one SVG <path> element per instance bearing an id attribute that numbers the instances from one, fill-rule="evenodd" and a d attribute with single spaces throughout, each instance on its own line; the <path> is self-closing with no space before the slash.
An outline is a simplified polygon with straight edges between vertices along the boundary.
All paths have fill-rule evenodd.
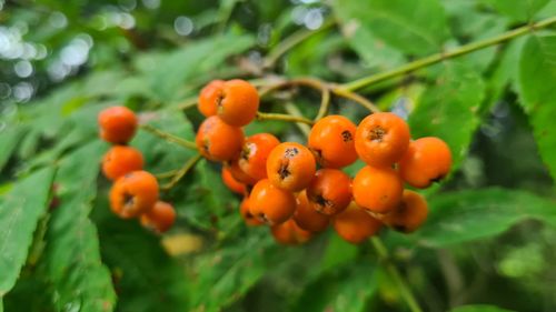
<path id="1" fill-rule="evenodd" d="M 390 212 L 379 215 L 380 221 L 396 231 L 410 233 L 417 230 L 428 215 L 428 204 L 419 193 L 405 190 L 401 202 Z"/>

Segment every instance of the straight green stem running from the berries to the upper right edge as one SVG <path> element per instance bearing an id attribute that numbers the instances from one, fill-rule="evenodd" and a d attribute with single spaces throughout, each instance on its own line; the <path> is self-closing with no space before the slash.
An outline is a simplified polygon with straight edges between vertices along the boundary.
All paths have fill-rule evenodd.
<path id="1" fill-rule="evenodd" d="M 347 82 L 347 83 L 340 84 L 339 89 L 342 89 L 345 91 L 355 91 L 355 90 L 361 89 L 364 87 L 368 87 L 368 85 L 375 84 L 377 82 L 388 80 L 388 79 L 394 78 L 394 77 L 398 77 L 401 74 L 406 74 L 408 72 L 416 71 L 418 69 L 438 63 L 438 62 L 444 61 L 444 60 L 457 58 L 457 57 L 460 57 L 460 56 L 464 56 L 464 54 L 467 54 L 467 53 L 470 53 L 470 52 L 474 52 L 474 51 L 477 51 L 477 50 L 480 50 L 484 48 L 488 48 L 490 46 L 496 46 L 496 44 L 509 41 L 516 37 L 524 36 L 528 32 L 532 32 L 532 31 L 535 31 L 538 29 L 547 28 L 548 26 L 554 24 L 554 23 L 556 23 L 556 17 L 545 19 L 543 21 L 539 21 L 539 22 L 536 22 L 533 24 L 527 24 L 527 26 L 524 26 L 520 28 L 516 28 L 514 30 L 510 30 L 508 32 L 505 32 L 500 36 L 497 36 L 497 37 L 494 37 L 490 39 L 486 39 L 486 40 L 481 40 L 481 41 L 477 41 L 477 42 L 471 42 L 469 44 L 461 46 L 461 47 L 454 49 L 451 51 L 448 51 L 448 52 L 440 52 L 437 54 L 433 54 L 433 56 L 426 57 L 424 59 L 407 63 L 407 64 L 401 66 L 399 68 L 395 68 L 395 69 L 389 70 L 389 71 L 380 72 L 377 74 L 371 74 L 371 76 L 364 77 L 361 79 L 358 79 L 358 80 L 355 80 L 351 82 Z"/>

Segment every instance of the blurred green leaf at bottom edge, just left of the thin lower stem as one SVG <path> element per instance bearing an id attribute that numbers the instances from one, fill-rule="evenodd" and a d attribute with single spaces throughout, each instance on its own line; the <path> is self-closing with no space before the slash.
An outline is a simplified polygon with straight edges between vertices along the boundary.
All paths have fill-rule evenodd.
<path id="1" fill-rule="evenodd" d="M 374 265 L 351 262 L 310 283 L 292 311 L 368 311 L 366 303 L 377 289 Z"/>

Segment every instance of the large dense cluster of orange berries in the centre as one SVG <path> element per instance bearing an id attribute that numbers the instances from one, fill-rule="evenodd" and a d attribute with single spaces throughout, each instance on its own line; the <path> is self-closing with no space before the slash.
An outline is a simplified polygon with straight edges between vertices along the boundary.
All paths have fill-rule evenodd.
<path id="1" fill-rule="evenodd" d="M 242 194 L 248 225 L 268 224 L 284 244 L 308 241 L 331 223 L 346 241 L 359 243 L 383 224 L 413 232 L 427 218 L 426 200 L 404 183 L 427 188 L 451 165 L 438 138 L 411 140 L 409 127 L 389 112 L 373 113 L 358 125 L 342 115 L 316 122 L 307 147 L 280 142 L 270 133 L 244 137 L 257 115 L 257 89 L 244 80 L 215 80 L 200 92 L 207 118 L 196 144 L 208 160 L 222 162 L 222 181 Z M 366 165 L 354 179 L 341 168 Z"/>

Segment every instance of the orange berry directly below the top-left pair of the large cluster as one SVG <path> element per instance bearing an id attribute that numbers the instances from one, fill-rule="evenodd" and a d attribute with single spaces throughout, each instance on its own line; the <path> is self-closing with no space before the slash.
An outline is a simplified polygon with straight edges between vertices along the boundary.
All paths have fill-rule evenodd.
<path id="1" fill-rule="evenodd" d="M 217 115 L 207 118 L 195 140 L 199 152 L 211 161 L 237 159 L 244 144 L 244 131 L 225 123 Z"/>

